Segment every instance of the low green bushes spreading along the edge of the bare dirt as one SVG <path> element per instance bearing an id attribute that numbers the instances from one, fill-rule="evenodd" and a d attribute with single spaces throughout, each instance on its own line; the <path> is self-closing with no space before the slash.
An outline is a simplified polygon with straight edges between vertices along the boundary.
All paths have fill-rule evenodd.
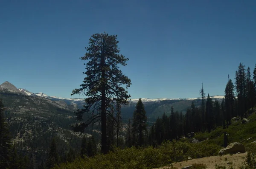
<path id="1" fill-rule="evenodd" d="M 152 146 L 115 148 L 113 152 L 106 155 L 98 154 L 94 158 L 78 158 L 73 163 L 62 163 L 55 169 L 152 169 L 175 161 L 183 161 L 188 157 L 202 158 L 217 155 L 219 149 L 220 147 L 214 144 L 166 141 L 158 149 Z"/>

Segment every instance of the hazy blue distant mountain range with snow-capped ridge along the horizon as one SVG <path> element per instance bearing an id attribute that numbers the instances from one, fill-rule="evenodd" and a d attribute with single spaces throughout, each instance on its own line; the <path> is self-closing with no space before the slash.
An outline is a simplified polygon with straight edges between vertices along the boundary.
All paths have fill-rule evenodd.
<path id="1" fill-rule="evenodd" d="M 10 82 L 4 82 L 0 85 L 0 92 L 7 91 L 10 93 L 16 93 L 18 95 L 32 96 L 32 97 L 40 97 L 45 99 L 50 99 L 51 101 L 55 101 L 56 104 L 63 106 L 64 109 L 67 107 L 72 108 L 71 111 L 74 111 L 76 108 L 82 108 L 85 104 L 84 98 L 62 98 L 57 96 L 48 96 L 42 92 L 40 93 L 32 93 L 29 90 L 15 87 Z M 221 101 L 224 96 L 210 96 L 212 99 L 217 99 Z M 195 105 L 200 105 L 200 97 L 195 98 L 186 98 L 186 99 L 147 99 L 141 98 L 143 103 L 145 104 L 145 110 L 147 112 L 147 116 L 149 119 L 154 121 L 158 116 L 163 113 L 170 113 L 171 107 L 173 106 L 175 110 L 185 112 L 187 107 L 191 105 L 191 102 L 194 100 Z M 206 98 L 205 98 L 206 99 Z M 136 103 L 139 99 L 129 99 L 129 104 L 122 107 L 122 115 L 124 118 L 131 118 L 134 112 Z"/>

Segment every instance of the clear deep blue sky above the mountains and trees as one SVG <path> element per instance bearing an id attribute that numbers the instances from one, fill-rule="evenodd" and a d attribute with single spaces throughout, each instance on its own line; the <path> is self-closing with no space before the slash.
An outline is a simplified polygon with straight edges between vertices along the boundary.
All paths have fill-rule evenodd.
<path id="1" fill-rule="evenodd" d="M 1 0 L 0 83 L 70 98 L 92 34 L 117 34 L 131 98 L 223 95 L 255 68 L 255 0 Z M 78 96 L 72 96 L 73 98 Z"/>

